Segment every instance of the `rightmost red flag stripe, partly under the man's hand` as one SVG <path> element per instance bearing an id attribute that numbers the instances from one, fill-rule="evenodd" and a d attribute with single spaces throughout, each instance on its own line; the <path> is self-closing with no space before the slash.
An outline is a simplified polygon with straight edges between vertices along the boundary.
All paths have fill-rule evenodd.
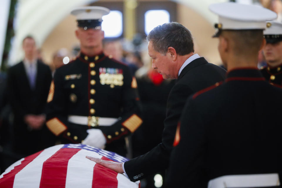
<path id="1" fill-rule="evenodd" d="M 107 157 L 102 157 L 102 160 L 112 161 Z M 93 170 L 93 188 L 117 188 L 117 172 L 103 167 L 100 164 L 95 164 Z"/>

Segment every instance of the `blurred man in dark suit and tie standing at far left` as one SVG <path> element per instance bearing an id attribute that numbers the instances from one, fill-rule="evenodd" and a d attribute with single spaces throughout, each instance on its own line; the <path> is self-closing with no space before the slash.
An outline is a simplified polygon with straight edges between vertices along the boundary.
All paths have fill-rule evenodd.
<path id="1" fill-rule="evenodd" d="M 24 38 L 23 49 L 25 58 L 9 68 L 7 84 L 14 112 L 14 151 L 19 158 L 53 144 L 45 126 L 51 70 L 37 59 L 35 40 L 31 36 Z"/>

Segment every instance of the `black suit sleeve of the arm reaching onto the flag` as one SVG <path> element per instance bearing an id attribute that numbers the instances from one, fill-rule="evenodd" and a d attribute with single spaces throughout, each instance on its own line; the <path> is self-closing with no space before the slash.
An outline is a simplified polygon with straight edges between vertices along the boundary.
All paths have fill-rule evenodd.
<path id="1" fill-rule="evenodd" d="M 145 155 L 136 157 L 124 164 L 125 172 L 131 181 L 138 181 L 168 167 L 177 122 L 187 98 L 192 93 L 194 91 L 187 85 L 174 85 L 167 101 L 167 117 L 164 120 L 162 143 Z"/>

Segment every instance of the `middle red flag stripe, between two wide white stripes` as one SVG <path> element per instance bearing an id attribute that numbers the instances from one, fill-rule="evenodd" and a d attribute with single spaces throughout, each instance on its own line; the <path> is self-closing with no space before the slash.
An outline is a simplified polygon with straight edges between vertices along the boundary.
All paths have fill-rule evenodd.
<path id="1" fill-rule="evenodd" d="M 43 163 L 40 188 L 65 187 L 68 160 L 81 149 L 62 148 Z"/>

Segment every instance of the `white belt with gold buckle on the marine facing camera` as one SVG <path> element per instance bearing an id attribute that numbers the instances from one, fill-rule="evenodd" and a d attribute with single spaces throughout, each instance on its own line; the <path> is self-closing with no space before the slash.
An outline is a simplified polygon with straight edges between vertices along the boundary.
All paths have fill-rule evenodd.
<path id="1" fill-rule="evenodd" d="M 111 126 L 118 121 L 117 118 L 112 117 L 96 117 L 96 116 L 79 116 L 69 115 L 68 121 L 80 125 L 96 126 Z"/>

